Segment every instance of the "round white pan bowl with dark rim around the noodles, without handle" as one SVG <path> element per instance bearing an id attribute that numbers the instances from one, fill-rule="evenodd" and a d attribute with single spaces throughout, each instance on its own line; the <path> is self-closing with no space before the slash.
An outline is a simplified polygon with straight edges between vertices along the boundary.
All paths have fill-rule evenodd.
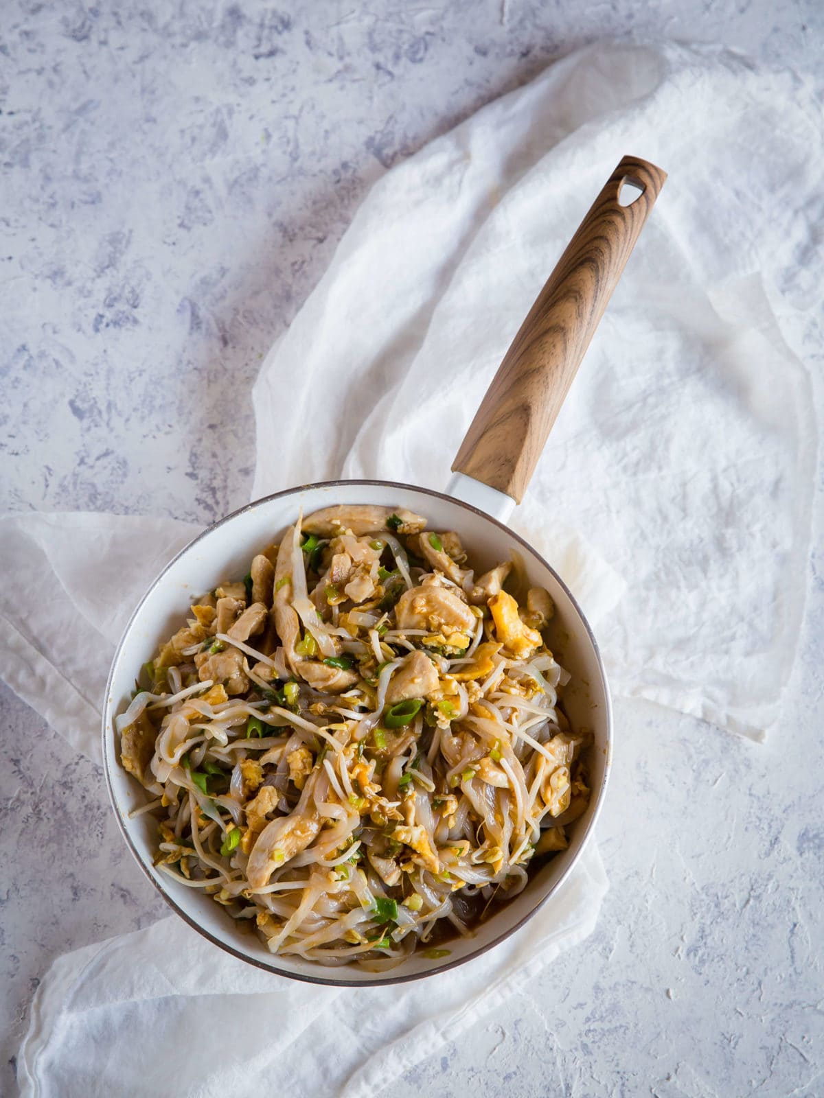
<path id="1" fill-rule="evenodd" d="M 589 760 L 592 796 L 586 814 L 572 828 L 568 850 L 538 870 L 524 892 L 482 923 L 474 937 L 452 942 L 447 959 L 432 960 L 415 953 L 382 974 L 352 965 L 326 967 L 300 957 L 272 955 L 254 931 L 232 920 L 200 889 L 187 888 L 159 873 L 153 865 L 154 818 L 151 814 L 129 818 L 132 809 L 145 803 L 145 793 L 119 763 L 113 719 L 129 702 L 136 670 L 154 657 L 158 642 L 178 628 L 194 596 L 210 591 L 221 580 L 243 575 L 252 556 L 294 522 L 300 509 L 309 515 L 344 503 L 403 506 L 424 515 L 430 527 L 457 530 L 476 573 L 517 553 L 531 584 L 546 587 L 556 604 L 550 647 L 572 676 L 563 695 L 565 710 L 574 728 L 593 732 Z M 609 692 L 597 646 L 569 592 L 548 564 L 505 526 L 449 496 L 404 484 L 343 481 L 307 485 L 258 500 L 210 527 L 171 561 L 132 616 L 115 653 L 105 702 L 103 752 L 109 789 L 121 829 L 144 872 L 178 914 L 218 945 L 271 972 L 321 983 L 363 985 L 414 979 L 459 964 L 505 937 L 569 873 L 592 831 L 609 770 Z"/>

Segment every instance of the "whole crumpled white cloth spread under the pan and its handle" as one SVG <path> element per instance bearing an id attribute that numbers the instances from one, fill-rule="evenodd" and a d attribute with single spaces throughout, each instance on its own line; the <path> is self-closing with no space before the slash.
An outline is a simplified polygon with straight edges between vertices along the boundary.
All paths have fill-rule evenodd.
<path id="1" fill-rule="evenodd" d="M 822 217 L 821 145 L 803 81 L 710 49 L 593 46 L 485 108 L 372 189 L 266 359 L 254 495 L 339 474 L 443 488 L 592 198 L 623 154 L 655 160 L 669 182 L 514 525 L 592 619 L 628 587 L 599 628 L 613 688 L 760 738 L 803 609 L 815 434 L 782 332 L 806 332 L 817 301 L 795 260 Z M 3 674 L 92 758 L 114 642 L 192 533 L 0 525 L 12 584 L 38 593 L 0 607 Z M 176 919 L 87 946 L 41 984 L 23 1093 L 246 1095 L 282 1064 L 296 1093 L 371 1096 L 586 937 L 604 889 L 591 850 L 526 928 L 438 979 L 437 1006 L 427 982 L 260 974 Z"/>

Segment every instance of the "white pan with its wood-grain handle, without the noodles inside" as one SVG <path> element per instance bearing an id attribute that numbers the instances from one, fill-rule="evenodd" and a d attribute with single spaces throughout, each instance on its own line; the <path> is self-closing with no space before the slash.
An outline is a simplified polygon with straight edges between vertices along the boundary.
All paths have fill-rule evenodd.
<path id="1" fill-rule="evenodd" d="M 103 714 L 103 758 L 112 806 L 144 873 L 167 903 L 197 931 L 229 953 L 282 976 L 319 984 L 392 984 L 444 972 L 490 949 L 521 927 L 560 888 L 590 839 L 610 772 L 612 716 L 601 657 L 575 598 L 530 545 L 506 526 L 520 503 L 549 430 L 572 382 L 610 294 L 638 238 L 666 175 L 624 157 L 583 219 L 515 336 L 453 463 L 448 494 L 388 481 L 307 484 L 257 500 L 197 537 L 164 569 L 144 595 L 118 646 Z M 628 186 L 625 186 L 628 184 Z M 636 195 L 625 204 L 625 195 Z M 269 545 L 302 509 L 310 515 L 336 504 L 407 507 L 430 529 L 457 530 L 476 574 L 510 559 L 524 562 L 531 585 L 555 601 L 548 643 L 571 681 L 563 692 L 574 728 L 592 731 L 587 811 L 570 827 L 567 850 L 531 874 L 526 888 L 482 922 L 474 937 L 450 942 L 447 957 L 413 953 L 385 973 L 355 966 L 327 967 L 297 956 L 272 955 L 200 889 L 187 888 L 153 865 L 156 820 L 130 818 L 145 791 L 120 765 L 114 716 L 127 705 L 136 669 L 174 632 L 194 596 L 229 575 L 247 571 L 254 553 Z M 525 931 L 528 933 L 528 931 Z"/>

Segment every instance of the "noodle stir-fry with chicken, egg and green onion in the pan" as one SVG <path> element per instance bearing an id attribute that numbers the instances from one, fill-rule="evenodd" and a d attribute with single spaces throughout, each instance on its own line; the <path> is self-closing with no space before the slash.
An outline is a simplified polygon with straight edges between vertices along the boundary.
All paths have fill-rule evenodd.
<path id="1" fill-rule="evenodd" d="M 552 600 L 469 564 L 403 508 L 316 512 L 191 606 L 116 718 L 157 866 L 272 953 L 447 956 L 567 847 L 587 737 Z"/>

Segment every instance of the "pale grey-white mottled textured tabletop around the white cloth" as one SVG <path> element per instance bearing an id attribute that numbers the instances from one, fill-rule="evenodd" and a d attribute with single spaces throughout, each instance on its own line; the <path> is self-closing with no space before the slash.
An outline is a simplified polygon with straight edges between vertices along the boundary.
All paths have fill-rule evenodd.
<path id="1" fill-rule="evenodd" d="M 112 13 L 8 0 L 0 508 L 208 522 L 237 506 L 259 357 L 369 183 L 554 57 L 633 29 L 824 77 L 824 9 L 812 2 L 151 2 Z M 816 530 L 821 544 L 820 520 Z M 802 656 L 770 742 L 620 704 L 600 825 L 612 887 L 594 937 L 409 1073 L 396 1098 L 824 1094 L 815 560 L 811 575 Z M 48 962 L 165 908 L 115 833 L 100 772 L 15 697 L 0 701 L 5 1094 Z"/>

